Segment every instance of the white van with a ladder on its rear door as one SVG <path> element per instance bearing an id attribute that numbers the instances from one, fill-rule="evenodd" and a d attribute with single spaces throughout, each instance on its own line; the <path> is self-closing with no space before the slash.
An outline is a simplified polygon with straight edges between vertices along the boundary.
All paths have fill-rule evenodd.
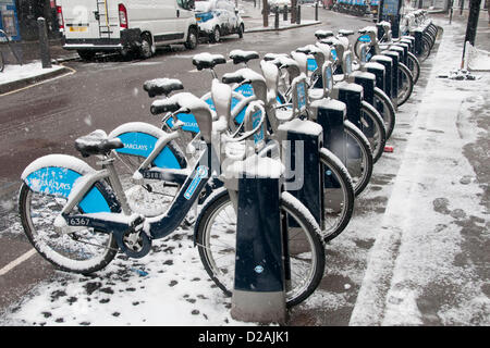
<path id="1" fill-rule="evenodd" d="M 150 58 L 157 46 L 198 44 L 194 0 L 57 0 L 57 11 L 63 48 L 87 60 L 101 51 Z"/>

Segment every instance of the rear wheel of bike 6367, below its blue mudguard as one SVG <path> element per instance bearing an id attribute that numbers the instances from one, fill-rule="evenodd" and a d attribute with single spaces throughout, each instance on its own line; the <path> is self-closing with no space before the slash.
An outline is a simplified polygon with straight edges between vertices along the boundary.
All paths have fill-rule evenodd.
<path id="1" fill-rule="evenodd" d="M 88 227 L 57 232 L 54 220 L 66 201 L 63 197 L 33 191 L 24 183 L 19 210 L 27 239 L 42 258 L 62 271 L 89 274 L 103 269 L 118 252 L 115 238 Z M 78 213 L 83 211 L 78 209 Z"/>

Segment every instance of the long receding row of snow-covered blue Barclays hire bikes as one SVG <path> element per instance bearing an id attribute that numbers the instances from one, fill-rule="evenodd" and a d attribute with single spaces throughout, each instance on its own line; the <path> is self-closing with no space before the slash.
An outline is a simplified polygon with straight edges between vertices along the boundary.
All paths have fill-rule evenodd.
<path id="1" fill-rule="evenodd" d="M 324 244 L 348 225 L 420 72 L 415 38 L 390 33 L 387 23 L 358 30 L 355 39 L 352 30 L 317 30 L 309 45 L 261 60 L 234 50 L 229 59 L 240 69 L 221 77 L 216 66 L 226 64 L 224 55 L 196 54 L 193 64 L 211 77 L 204 96 L 174 78 L 146 82 L 144 90 L 158 97 L 150 111 L 161 126 L 135 121 L 76 139 L 97 169 L 49 154 L 24 170 L 19 208 L 26 236 L 60 270 L 89 274 L 118 252 L 143 258 L 155 239 L 194 225 L 206 272 L 231 295 L 237 179 L 275 173 L 286 304 L 302 302 L 321 281 Z M 319 135 L 319 145 L 292 159 L 292 132 Z M 297 158 L 304 162 L 291 165 Z M 292 174 L 311 163 L 320 189 L 298 195 Z"/>

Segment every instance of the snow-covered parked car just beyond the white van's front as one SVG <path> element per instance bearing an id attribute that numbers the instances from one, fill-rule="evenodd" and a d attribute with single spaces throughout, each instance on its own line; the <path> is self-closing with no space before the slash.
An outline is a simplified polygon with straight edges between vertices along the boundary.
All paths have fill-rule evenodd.
<path id="1" fill-rule="evenodd" d="M 234 2 L 229 0 L 196 1 L 196 20 L 199 36 L 206 36 L 211 42 L 218 42 L 222 36 L 238 34 L 243 37 L 245 25 Z"/>

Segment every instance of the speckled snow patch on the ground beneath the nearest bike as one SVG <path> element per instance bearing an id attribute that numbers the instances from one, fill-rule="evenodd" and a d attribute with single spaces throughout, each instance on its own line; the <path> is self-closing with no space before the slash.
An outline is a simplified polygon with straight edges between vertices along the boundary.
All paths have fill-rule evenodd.
<path id="1" fill-rule="evenodd" d="M 243 325 L 203 269 L 192 229 L 157 241 L 149 256 L 119 256 L 94 276 L 58 272 L 1 325 Z"/>

